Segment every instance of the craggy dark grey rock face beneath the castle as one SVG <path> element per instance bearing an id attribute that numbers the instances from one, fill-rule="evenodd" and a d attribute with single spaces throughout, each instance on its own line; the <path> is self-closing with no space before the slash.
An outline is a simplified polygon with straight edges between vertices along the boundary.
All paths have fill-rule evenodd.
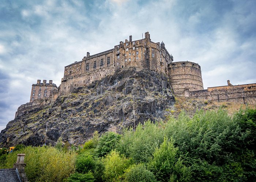
<path id="1" fill-rule="evenodd" d="M 121 132 L 147 119 L 165 119 L 174 97 L 167 77 L 148 70 L 123 68 L 86 87 L 75 87 L 45 107 L 26 110 L 1 131 L 1 146 L 54 145 L 59 137 L 79 145 L 94 131 Z M 133 114 L 135 111 L 135 116 Z M 46 122 L 48 129 L 46 133 Z"/>

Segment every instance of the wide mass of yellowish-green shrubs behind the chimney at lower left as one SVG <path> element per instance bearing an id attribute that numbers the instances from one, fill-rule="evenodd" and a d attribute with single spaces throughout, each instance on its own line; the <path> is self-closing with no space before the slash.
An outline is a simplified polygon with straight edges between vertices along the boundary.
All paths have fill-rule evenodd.
<path id="1" fill-rule="evenodd" d="M 62 182 L 75 170 L 75 153 L 64 153 L 54 147 L 27 146 L 8 155 L 1 168 L 12 168 L 17 154 L 25 153 L 25 172 L 29 181 Z"/>

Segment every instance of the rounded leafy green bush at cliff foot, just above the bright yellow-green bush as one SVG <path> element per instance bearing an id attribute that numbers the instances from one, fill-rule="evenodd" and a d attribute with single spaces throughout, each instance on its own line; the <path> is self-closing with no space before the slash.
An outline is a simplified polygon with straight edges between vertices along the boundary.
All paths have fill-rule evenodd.
<path id="1" fill-rule="evenodd" d="M 106 132 L 103 134 L 101 138 L 99 138 L 98 145 L 96 147 L 98 157 L 102 157 L 113 150 L 120 138 L 121 135 L 115 132 Z"/>

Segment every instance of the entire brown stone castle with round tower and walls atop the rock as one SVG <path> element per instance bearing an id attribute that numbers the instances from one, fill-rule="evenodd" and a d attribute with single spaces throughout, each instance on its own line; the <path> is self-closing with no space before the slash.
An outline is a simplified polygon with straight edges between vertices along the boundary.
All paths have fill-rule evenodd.
<path id="1" fill-rule="evenodd" d="M 52 80 L 49 84 L 46 84 L 46 80 L 43 83 L 38 80 L 37 84 L 32 85 L 30 103 L 27 104 L 33 106 L 38 104 L 38 100 L 45 100 L 40 103 L 52 102 L 60 95 L 71 93 L 74 87 L 87 86 L 125 67 L 147 69 L 167 76 L 174 95 L 218 102 L 230 100 L 238 103 L 256 103 L 256 84 L 233 86 L 228 80 L 228 86 L 210 87 L 204 90 L 199 64 L 188 61 L 173 62 L 173 56 L 166 50 L 165 44 L 154 43 L 150 39 L 150 34 L 146 32 L 144 39 L 132 40 L 132 36 L 129 36 L 129 40 L 120 41 L 108 51 L 95 55 L 87 52 L 82 61 L 65 66 L 64 77 L 58 88 Z M 43 96 L 41 96 L 42 87 L 44 87 Z M 20 107 L 25 107 L 23 105 Z"/>

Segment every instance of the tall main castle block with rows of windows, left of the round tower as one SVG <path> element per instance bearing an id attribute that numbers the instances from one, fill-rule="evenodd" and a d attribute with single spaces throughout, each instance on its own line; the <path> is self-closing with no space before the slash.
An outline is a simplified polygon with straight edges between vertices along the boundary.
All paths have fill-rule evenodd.
<path id="1" fill-rule="evenodd" d="M 66 66 L 59 95 L 68 94 L 74 87 L 86 86 L 124 67 L 144 68 L 168 75 L 168 65 L 172 61 L 173 57 L 165 49 L 164 43 L 152 42 L 148 32 L 141 40 L 132 41 L 130 36 L 129 41 L 120 41 L 111 50 L 95 55 L 87 52 L 82 61 Z"/>

